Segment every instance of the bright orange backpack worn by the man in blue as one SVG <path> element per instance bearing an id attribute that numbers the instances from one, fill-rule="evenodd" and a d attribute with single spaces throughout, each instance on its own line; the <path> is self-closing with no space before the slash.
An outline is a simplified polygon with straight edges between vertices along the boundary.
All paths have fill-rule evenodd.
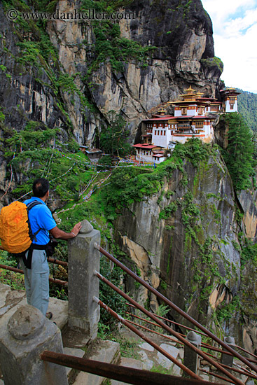
<path id="1" fill-rule="evenodd" d="M 27 251 L 32 244 L 34 235 L 29 224 L 28 212 L 36 204 L 41 204 L 38 201 L 25 203 L 15 201 L 1 209 L 0 213 L 0 239 L 1 246 L 9 253 L 18 254 Z"/>

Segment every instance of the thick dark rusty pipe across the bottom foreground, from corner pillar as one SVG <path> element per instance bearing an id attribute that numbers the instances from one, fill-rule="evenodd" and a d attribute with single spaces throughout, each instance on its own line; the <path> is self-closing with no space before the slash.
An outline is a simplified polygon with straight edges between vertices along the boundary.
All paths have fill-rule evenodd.
<path id="1" fill-rule="evenodd" d="M 95 360 L 87 360 L 67 354 L 44 351 L 41 355 L 43 361 L 56 363 L 57 365 L 72 367 L 81 372 L 88 372 L 104 378 L 116 379 L 132 385 L 218 385 L 214 382 L 198 381 L 197 379 L 186 379 L 169 376 L 148 370 L 133 369 L 111 363 L 102 363 Z"/>

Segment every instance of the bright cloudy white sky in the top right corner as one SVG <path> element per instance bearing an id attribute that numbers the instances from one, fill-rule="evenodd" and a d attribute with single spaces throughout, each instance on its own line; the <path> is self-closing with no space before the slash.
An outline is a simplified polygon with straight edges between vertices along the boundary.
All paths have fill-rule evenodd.
<path id="1" fill-rule="evenodd" d="M 202 0 L 227 87 L 257 93 L 257 0 Z"/>

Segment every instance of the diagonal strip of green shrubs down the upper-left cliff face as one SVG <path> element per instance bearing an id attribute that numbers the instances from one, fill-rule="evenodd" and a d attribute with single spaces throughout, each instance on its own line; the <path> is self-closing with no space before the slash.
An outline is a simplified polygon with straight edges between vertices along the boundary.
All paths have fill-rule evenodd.
<path id="1" fill-rule="evenodd" d="M 33 6 L 34 12 L 53 12 L 56 3 L 57 1 L 49 0 L 33 1 L 33 4 L 29 3 L 29 6 Z M 31 12 L 29 6 L 20 0 L 4 1 L 6 12 L 11 8 L 19 12 Z M 69 113 L 67 113 L 65 92 L 70 95 L 71 104 L 74 103 L 75 94 L 78 96 L 84 118 L 85 109 L 94 111 L 95 107 L 90 104 L 85 94 L 76 85 L 75 80 L 77 76 L 80 76 L 80 73 L 69 76 L 60 67 L 58 52 L 46 32 L 46 22 L 46 20 L 25 20 L 20 15 L 16 20 L 13 20 L 13 34 L 18 36 L 17 46 L 20 48 L 20 52 L 15 56 L 8 52 L 8 55 L 11 55 L 15 60 L 16 68 L 19 69 L 20 74 L 32 73 L 36 82 L 44 87 L 46 93 L 50 92 L 55 95 L 55 107 L 58 107 L 62 113 L 63 127 L 71 134 L 72 125 Z M 28 39 L 28 34 L 32 34 L 33 39 Z M 4 66 L 1 70 L 4 71 Z"/>

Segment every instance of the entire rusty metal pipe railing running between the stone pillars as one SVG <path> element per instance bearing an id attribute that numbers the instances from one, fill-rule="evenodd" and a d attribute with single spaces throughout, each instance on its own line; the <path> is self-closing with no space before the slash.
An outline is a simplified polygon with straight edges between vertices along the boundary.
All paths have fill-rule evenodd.
<path id="1" fill-rule="evenodd" d="M 114 262 L 116 265 L 118 265 L 118 267 L 120 267 L 121 269 L 123 269 L 123 271 L 125 271 L 127 274 L 129 274 L 130 276 L 132 276 L 137 282 L 141 283 L 142 286 L 146 287 L 148 290 L 150 290 L 152 293 L 154 293 L 157 297 L 159 297 L 163 302 L 165 302 L 169 307 L 171 307 L 172 309 L 174 309 L 175 311 L 177 311 L 177 313 L 179 313 L 181 316 L 183 316 L 183 318 L 186 318 L 188 321 L 190 321 L 191 323 L 193 323 L 193 325 L 195 325 L 196 328 L 202 330 L 202 331 L 199 331 L 199 330 L 195 330 L 195 329 L 192 329 L 192 328 L 189 328 L 188 326 L 185 326 L 185 325 L 181 325 L 180 323 L 176 323 L 174 321 L 171 321 L 169 320 L 168 318 L 165 318 L 165 317 L 162 317 L 162 316 L 158 316 L 156 314 L 152 314 L 150 311 L 144 309 L 144 307 L 141 307 L 140 304 L 138 304 L 136 301 L 134 301 L 131 297 L 129 297 L 127 294 L 123 293 L 122 290 L 120 290 L 119 288 L 117 288 L 115 285 L 113 285 L 113 283 L 111 283 L 110 281 L 108 281 L 104 276 L 102 276 L 102 274 L 100 274 L 99 272 L 95 271 L 95 276 L 97 276 L 99 279 L 101 279 L 104 283 L 106 283 L 108 286 L 110 286 L 111 288 L 113 288 L 113 290 L 115 290 L 117 293 L 119 293 L 120 295 L 122 295 L 125 300 L 127 300 L 128 302 L 130 302 L 130 306 L 132 307 L 135 307 L 136 309 L 139 309 L 140 311 L 142 311 L 144 314 L 146 314 L 146 316 L 148 316 L 149 318 L 151 318 L 155 323 L 151 322 L 151 321 L 148 321 L 144 318 L 141 318 L 139 316 L 136 316 L 134 314 L 132 314 L 132 316 L 134 316 L 135 318 L 139 318 L 141 319 L 142 321 L 144 322 L 148 322 L 148 323 L 151 323 L 152 325 L 154 326 L 158 326 L 164 330 L 166 330 L 167 332 L 169 332 L 170 334 L 172 334 L 174 337 L 176 337 L 176 339 L 172 338 L 172 337 L 169 337 L 167 335 L 162 335 L 161 333 L 158 333 L 158 332 L 155 332 L 155 330 L 151 330 L 151 329 L 148 329 L 146 327 L 144 327 L 143 325 L 139 325 L 137 323 L 134 323 L 130 320 L 125 320 L 124 318 L 120 317 L 115 311 L 113 311 L 110 307 L 108 307 L 108 305 L 104 304 L 101 300 L 99 300 L 98 298 L 94 297 L 94 300 L 95 302 L 97 302 L 97 304 L 99 304 L 99 306 L 103 307 L 104 309 L 106 309 L 107 311 L 109 311 L 109 313 L 111 313 L 116 319 L 118 319 L 118 321 L 120 321 L 121 323 L 123 323 L 124 325 L 127 326 L 127 328 L 130 328 L 130 330 L 132 330 L 133 332 L 135 332 L 137 335 L 139 335 L 142 339 L 144 339 L 144 341 L 148 342 L 148 344 L 151 344 L 151 346 L 153 346 L 156 350 L 160 351 L 160 353 L 162 353 L 164 356 L 166 356 L 169 360 L 172 360 L 173 363 L 175 363 L 176 365 L 178 365 L 181 370 L 183 370 L 183 372 L 186 372 L 186 374 L 190 375 L 190 377 L 193 378 L 193 380 L 189 381 L 189 382 L 185 382 L 186 379 L 183 379 L 181 380 L 181 384 L 211 384 L 210 382 L 206 382 L 206 381 L 202 381 L 201 377 L 198 376 L 197 374 L 195 374 L 194 372 L 192 372 L 191 370 L 188 369 L 188 367 L 186 367 L 185 365 L 183 365 L 179 360 L 176 360 L 176 358 L 172 357 L 169 355 L 169 353 L 167 353 L 167 351 L 165 351 L 164 349 L 160 348 L 160 346 L 158 346 L 157 344 L 155 344 L 154 342 L 151 341 L 151 339 L 148 339 L 145 335 L 143 335 L 141 332 L 139 332 L 139 330 L 137 330 L 137 327 L 139 328 L 143 328 L 144 330 L 150 330 L 151 332 L 155 332 L 156 334 L 159 334 L 159 335 L 162 335 L 163 337 L 166 337 L 167 339 L 170 339 L 172 340 L 173 342 L 176 342 L 178 344 L 183 344 L 183 345 L 188 345 L 190 347 L 190 349 L 193 349 L 193 351 L 195 351 L 197 354 L 199 354 L 199 356 L 202 356 L 202 358 L 204 358 L 204 360 L 207 360 L 211 365 L 213 365 L 214 367 L 216 367 L 217 370 L 219 370 L 221 373 L 223 373 L 225 376 L 227 376 L 228 378 L 225 378 L 225 377 L 222 377 L 220 374 L 216 374 L 216 373 L 211 373 L 211 372 L 208 372 L 208 374 L 210 375 L 213 375 L 215 377 L 218 377 L 220 379 L 223 379 L 225 381 L 228 381 L 228 382 L 232 382 L 233 384 L 239 384 L 239 385 L 242 385 L 242 381 L 240 381 L 239 379 L 237 379 L 233 374 L 231 374 L 230 371 L 228 370 L 232 370 L 234 372 L 237 372 L 239 374 L 244 374 L 244 375 L 247 375 L 253 379 L 257 379 L 257 376 L 255 374 L 253 374 L 252 372 L 250 372 L 249 370 L 245 369 L 244 367 L 240 367 L 239 369 L 235 368 L 235 367 L 229 367 L 227 365 L 223 365 L 221 363 L 218 363 L 216 362 L 216 360 L 214 360 L 213 358 L 216 358 L 214 356 L 211 356 L 210 353 L 204 353 L 203 351 L 201 351 L 200 349 L 197 349 L 197 347 L 195 347 L 193 344 L 191 344 L 187 339 L 185 339 L 184 335 L 179 333 L 179 332 L 176 332 L 174 331 L 172 328 L 170 328 L 168 325 L 166 325 L 163 321 L 166 321 L 166 322 L 169 322 L 170 324 L 174 324 L 174 325 L 178 325 L 179 327 L 181 328 L 185 328 L 186 330 L 193 330 L 194 332 L 197 332 L 199 333 L 200 335 L 204 335 L 204 336 L 207 336 L 207 337 L 211 337 L 211 339 L 213 339 L 214 341 L 218 342 L 218 344 L 220 344 L 223 349 L 225 350 L 221 350 L 221 349 L 218 349 L 216 348 L 215 346 L 211 346 L 209 344 L 204 344 L 202 343 L 201 346 L 204 347 L 205 349 L 210 349 L 210 350 L 213 350 L 213 351 L 216 351 L 216 352 L 221 352 L 223 354 L 228 354 L 228 355 L 232 355 L 236 358 L 238 358 L 239 360 L 242 361 L 242 363 L 244 363 L 245 365 L 247 365 L 247 367 L 251 368 L 251 370 L 254 370 L 255 372 L 257 372 L 257 367 L 256 365 L 253 365 L 253 363 L 257 363 L 256 360 L 253 360 L 253 359 L 246 359 L 245 357 L 243 357 L 241 354 L 237 353 L 237 351 L 235 351 L 234 349 L 232 349 L 228 344 L 225 344 L 225 342 L 223 342 L 221 339 L 219 339 L 218 337 L 216 337 L 212 332 L 210 332 L 209 330 L 207 330 L 207 328 L 204 328 L 204 326 L 202 326 L 200 323 L 198 323 L 197 321 L 195 321 L 191 316 L 189 316 L 188 314 L 186 314 L 183 310 L 181 310 L 179 307 L 177 307 L 173 302 L 171 302 L 170 300 L 168 300 L 164 295 L 160 294 L 158 292 L 158 290 L 155 290 L 155 288 L 153 288 L 152 286 L 150 286 L 148 283 L 146 283 L 146 281 L 144 281 L 143 279 L 141 279 L 139 276 L 137 276 L 137 274 L 134 274 L 134 272 L 132 272 L 130 269 L 128 269 L 125 265 L 123 265 L 120 261 L 118 261 L 116 258 L 113 257 L 113 255 L 111 255 L 110 253 L 108 253 L 107 251 L 104 250 L 104 248 L 102 248 L 101 246 L 95 244 L 95 248 L 97 248 L 103 255 L 105 255 L 107 258 L 109 258 L 109 260 L 111 260 L 112 262 Z M 63 261 L 60 261 L 60 260 L 55 260 L 53 258 L 48 258 L 48 262 L 53 262 L 57 265 L 62 265 L 64 267 L 67 267 L 68 263 L 67 262 L 63 262 Z M 15 267 L 10 267 L 10 266 L 6 266 L 6 265 L 0 265 L 0 268 L 3 268 L 3 269 L 8 269 L 10 271 L 13 271 L 13 272 L 18 272 L 18 273 L 23 273 L 22 272 L 22 269 L 17 269 Z M 50 281 L 54 282 L 54 283 L 60 283 L 61 285 L 65 285 L 67 286 L 67 282 L 66 281 L 61 281 L 61 280 L 58 280 L 58 279 L 52 279 L 52 278 L 49 278 Z M 241 348 L 240 346 L 236 345 L 236 347 L 242 351 L 244 351 L 244 353 L 248 353 L 250 354 L 252 357 L 254 358 L 257 358 L 257 356 L 253 353 L 250 353 L 249 351 L 246 351 L 245 349 Z M 52 356 L 51 356 L 52 355 Z M 52 357 L 52 358 L 50 358 Z M 55 357 L 55 358 L 53 358 Z M 63 364 L 62 362 L 62 359 L 64 359 L 65 357 L 65 364 Z M 211 358 L 212 357 L 212 358 Z M 69 366 L 69 367 L 74 367 L 74 366 L 71 366 L 71 365 L 75 365 L 74 364 L 74 359 L 77 361 L 78 358 L 75 358 L 73 356 L 67 356 L 67 355 L 61 355 L 61 354 L 58 354 L 58 353 L 53 353 L 53 352 L 44 352 L 43 355 L 42 355 L 42 359 L 43 360 L 49 360 L 49 362 L 54 362 L 52 359 L 55 359 L 57 361 L 55 361 L 55 363 L 59 363 L 60 365 L 65 365 L 65 366 Z M 89 363 L 92 363 L 93 361 L 91 360 L 85 360 L 85 359 L 82 359 L 80 358 L 81 361 L 81 365 L 83 363 L 83 365 L 85 363 L 87 363 L 87 365 L 85 365 L 84 367 L 81 366 L 81 368 L 78 369 L 78 367 L 75 367 L 76 369 L 78 370 L 82 370 L 82 371 L 86 371 L 86 372 L 91 372 L 90 370 L 88 370 L 88 367 L 90 366 Z M 68 363 L 69 361 L 69 363 Z M 88 366 L 89 365 L 89 366 Z M 99 366 L 99 362 L 97 362 L 97 365 Z M 102 365 L 111 365 L 111 364 L 105 364 L 105 363 L 102 363 Z M 113 366 L 117 366 L 117 365 L 113 365 Z M 118 368 L 120 368 L 120 366 L 117 366 Z M 227 370 L 228 369 L 228 370 Z M 95 369 L 94 369 L 95 370 Z M 103 370 L 104 370 L 104 367 L 103 367 Z M 134 370 L 132 371 L 131 368 L 128 369 L 128 368 L 125 368 L 125 372 L 126 370 L 128 370 L 130 373 L 131 372 L 134 372 Z M 137 372 L 137 371 L 136 371 Z M 139 371 L 140 372 L 140 371 Z M 145 371 L 141 371 L 141 372 L 145 372 Z M 202 370 L 202 372 L 204 372 L 204 370 Z M 107 373 L 107 374 L 106 374 Z M 146 372 L 148 373 L 148 372 Z M 98 372 L 94 372 L 93 374 L 99 374 Z M 134 372 L 134 375 L 135 377 L 132 375 L 132 377 L 134 379 L 131 379 L 131 382 L 128 381 L 128 377 L 127 377 L 127 374 L 126 374 L 126 378 L 124 379 L 124 377 L 109 377 L 110 374 L 108 374 L 108 370 L 106 372 L 106 370 L 104 370 L 104 374 L 99 374 L 99 375 L 104 375 L 104 377 L 106 378 L 112 378 L 112 379 L 118 379 L 120 381 L 124 381 L 126 380 L 127 383 L 129 384 L 139 384 L 141 385 L 141 378 L 140 375 L 139 375 L 139 379 L 135 379 L 137 377 L 136 375 L 137 373 Z M 113 372 L 111 374 L 113 376 Z M 144 375 L 146 375 L 144 373 Z M 164 374 L 162 374 L 163 376 Z M 147 376 L 146 376 L 147 377 Z M 153 379 L 153 372 L 151 372 L 151 375 L 150 375 L 151 379 Z M 166 383 L 169 383 L 169 384 L 173 384 L 172 382 L 172 378 L 176 379 L 176 384 L 180 384 L 179 380 L 180 380 L 180 377 L 172 377 L 172 376 L 167 376 L 165 375 L 165 377 L 169 377 L 169 379 L 165 378 L 164 377 L 162 379 L 160 379 L 160 383 L 162 384 L 166 384 Z M 172 378 L 171 378 L 172 377 Z M 157 378 L 157 377 L 156 377 Z M 153 384 L 159 384 L 158 380 L 155 379 L 154 380 L 155 382 L 153 382 Z M 165 382 L 165 381 L 168 381 L 168 382 Z M 188 381 L 188 380 L 187 380 Z M 195 381 L 195 382 L 193 382 Z M 151 384 L 152 382 L 151 381 L 148 381 L 148 384 Z M 175 384 L 175 382 L 174 382 Z"/>

